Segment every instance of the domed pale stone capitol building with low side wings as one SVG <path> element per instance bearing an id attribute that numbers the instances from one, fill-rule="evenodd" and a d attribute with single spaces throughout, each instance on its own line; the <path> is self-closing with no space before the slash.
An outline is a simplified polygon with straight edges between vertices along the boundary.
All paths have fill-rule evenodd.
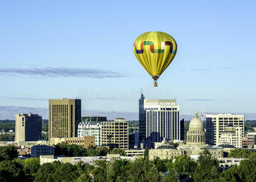
<path id="1" fill-rule="evenodd" d="M 155 145 L 155 149 L 149 150 L 149 159 L 154 160 L 159 157 L 160 159 L 173 159 L 180 155 L 189 155 L 192 158 L 197 158 L 200 152 L 207 149 L 213 157 L 222 158 L 226 151 L 233 149 L 233 146 L 209 146 L 205 144 L 205 129 L 202 120 L 195 113 L 194 118 L 190 121 L 190 126 L 187 131 L 187 143 L 182 143 L 179 147 L 174 147 L 169 143 L 163 141 L 161 144 Z"/>

